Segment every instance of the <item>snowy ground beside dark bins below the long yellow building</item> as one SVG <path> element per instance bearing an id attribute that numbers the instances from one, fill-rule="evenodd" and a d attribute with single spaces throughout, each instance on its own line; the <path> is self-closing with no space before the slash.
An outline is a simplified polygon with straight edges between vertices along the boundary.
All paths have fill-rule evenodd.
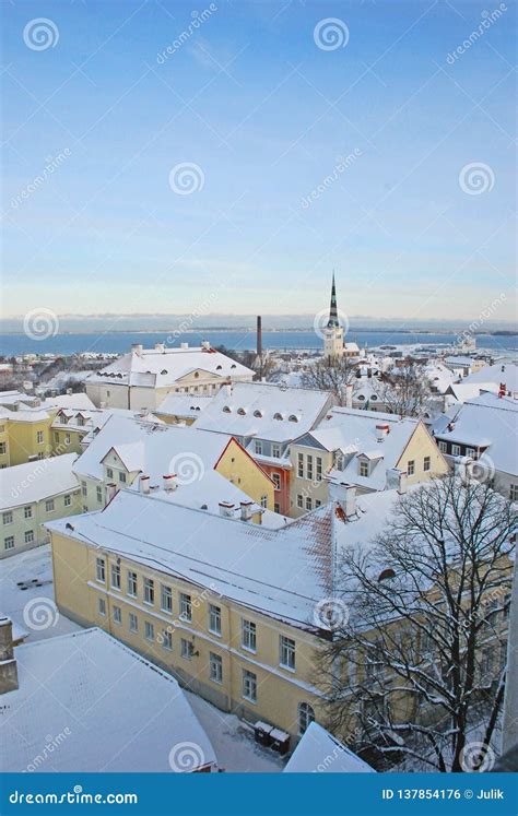
<path id="1" fill-rule="evenodd" d="M 243 720 L 191 691 L 186 696 L 212 743 L 220 768 L 236 773 L 279 773 L 284 769 L 287 760 L 258 745 L 252 729 Z"/>

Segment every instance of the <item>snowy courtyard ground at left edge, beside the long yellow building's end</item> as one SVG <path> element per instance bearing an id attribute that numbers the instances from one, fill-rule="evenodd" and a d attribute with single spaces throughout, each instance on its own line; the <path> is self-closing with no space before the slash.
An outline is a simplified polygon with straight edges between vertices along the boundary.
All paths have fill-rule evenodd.
<path id="1" fill-rule="evenodd" d="M 50 544 L 0 561 L 0 613 L 13 622 L 13 634 L 25 642 L 68 635 L 81 628 L 54 603 Z"/>

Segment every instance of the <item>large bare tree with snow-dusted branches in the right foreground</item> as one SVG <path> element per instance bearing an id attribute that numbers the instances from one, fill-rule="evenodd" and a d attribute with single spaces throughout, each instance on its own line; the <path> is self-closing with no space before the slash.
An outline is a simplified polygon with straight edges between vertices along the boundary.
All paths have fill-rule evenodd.
<path id="1" fill-rule="evenodd" d="M 504 695 L 516 521 L 491 484 L 448 475 L 402 496 L 386 531 L 343 556 L 337 580 L 353 614 L 319 676 L 330 729 L 355 733 L 381 767 L 484 768 Z"/>

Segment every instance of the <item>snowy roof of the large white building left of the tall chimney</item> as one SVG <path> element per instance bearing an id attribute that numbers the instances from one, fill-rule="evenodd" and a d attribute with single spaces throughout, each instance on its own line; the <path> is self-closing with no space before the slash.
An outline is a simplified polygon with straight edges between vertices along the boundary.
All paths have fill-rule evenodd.
<path id="1" fill-rule="evenodd" d="M 212 376 L 249 378 L 250 368 L 237 363 L 214 348 L 156 348 L 132 350 L 89 378 L 90 383 L 139 386 L 140 388 L 166 388 L 197 370 Z"/>

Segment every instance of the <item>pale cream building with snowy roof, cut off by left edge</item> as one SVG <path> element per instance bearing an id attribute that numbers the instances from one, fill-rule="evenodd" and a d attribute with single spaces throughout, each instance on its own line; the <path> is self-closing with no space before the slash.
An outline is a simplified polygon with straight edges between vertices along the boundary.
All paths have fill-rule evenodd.
<path id="1" fill-rule="evenodd" d="M 48 542 L 44 523 L 80 511 L 75 456 L 50 457 L 0 472 L 0 558 Z"/>

